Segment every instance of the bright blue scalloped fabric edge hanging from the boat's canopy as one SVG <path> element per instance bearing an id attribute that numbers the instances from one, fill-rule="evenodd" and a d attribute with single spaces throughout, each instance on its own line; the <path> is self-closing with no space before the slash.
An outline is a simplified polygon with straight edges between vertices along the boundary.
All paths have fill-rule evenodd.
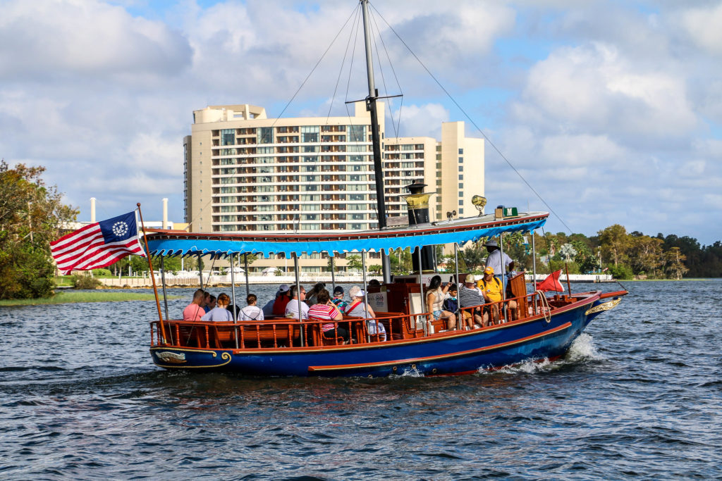
<path id="1" fill-rule="evenodd" d="M 273 240 L 256 241 L 245 239 L 183 239 L 165 238 L 148 239 L 152 255 L 220 255 L 261 254 L 264 257 L 284 253 L 285 255 L 312 254 L 313 252 L 380 252 L 382 250 L 406 249 L 437 244 L 466 244 L 480 237 L 493 237 L 502 233 L 531 231 L 543 226 L 547 219 L 525 222 L 522 224 L 501 225 L 469 229 L 464 231 L 442 231 L 432 234 L 402 235 L 398 237 L 368 237 L 365 239 L 318 239 L 318 240 Z M 427 231 L 428 232 L 428 231 Z"/>

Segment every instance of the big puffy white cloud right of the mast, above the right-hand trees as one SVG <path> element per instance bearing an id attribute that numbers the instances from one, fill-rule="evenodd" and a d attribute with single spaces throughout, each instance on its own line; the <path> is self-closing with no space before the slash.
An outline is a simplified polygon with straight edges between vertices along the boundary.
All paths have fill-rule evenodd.
<path id="1" fill-rule="evenodd" d="M 684 79 L 638 69 L 613 45 L 559 48 L 529 72 L 518 117 L 536 112 L 551 129 L 623 136 L 682 136 L 697 126 Z"/>

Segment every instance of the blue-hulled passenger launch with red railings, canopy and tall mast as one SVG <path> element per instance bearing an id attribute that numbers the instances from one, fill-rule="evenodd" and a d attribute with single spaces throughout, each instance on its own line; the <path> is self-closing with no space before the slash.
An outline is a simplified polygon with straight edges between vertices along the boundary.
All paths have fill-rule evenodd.
<path id="1" fill-rule="evenodd" d="M 434 275 L 432 246 L 453 244 L 458 247 L 482 238 L 540 229 L 549 213 L 518 213 L 516 209 L 497 208 L 484 213 L 483 198 L 474 206 L 479 215 L 465 219 L 431 222 L 424 185 L 412 184 L 406 195 L 408 226 L 386 226 L 381 169 L 380 140 L 375 102 L 378 92 L 373 84 L 373 65 L 367 34 L 367 0 L 360 1 L 365 24 L 373 158 L 378 199 L 378 230 L 342 231 L 338 234 L 245 234 L 188 233 L 186 231 L 144 229 L 147 252 L 151 255 L 230 257 L 280 255 L 295 262 L 296 286 L 299 286 L 300 255 L 381 252 L 383 283 L 364 290 L 375 317 L 344 317 L 329 322 L 318 319 L 271 318 L 263 321 L 201 322 L 165 318 L 156 292 L 158 319 L 150 322 L 150 354 L 156 366 L 168 370 L 230 371 L 244 376 L 445 376 L 473 374 L 499 369 L 524 361 L 554 361 L 567 353 L 573 341 L 592 319 L 616 306 L 627 291 L 603 294 L 589 291 L 547 297 L 544 292 L 526 292 L 523 273 L 506 281 L 505 296 L 497 303 L 465 307 L 464 310 L 494 308 L 502 313 L 498 322 L 485 327 L 461 329 L 446 319 L 433 319 L 425 312 L 425 284 Z M 533 238 L 533 237 L 532 237 Z M 503 246 L 503 242 L 500 242 Z M 414 275 L 391 278 L 388 254 L 410 248 L 414 252 Z M 456 262 L 458 266 L 458 262 Z M 162 271 L 161 271 L 162 272 Z M 232 271 L 233 272 L 233 271 Z M 456 272 L 453 280 L 463 282 Z M 504 279 L 503 279 L 504 281 Z M 235 282 L 235 281 L 234 281 Z M 202 287 L 202 286 L 201 286 Z M 165 294 L 165 288 L 164 288 Z M 165 296 L 164 296 L 165 297 Z M 235 304 L 235 284 L 233 287 Z M 512 315 L 512 304 L 518 314 Z M 458 312 L 458 314 L 462 314 Z M 322 325 L 334 325 L 349 332 L 351 342 L 339 335 L 327 337 Z M 380 334 L 383 325 L 386 335 Z"/>

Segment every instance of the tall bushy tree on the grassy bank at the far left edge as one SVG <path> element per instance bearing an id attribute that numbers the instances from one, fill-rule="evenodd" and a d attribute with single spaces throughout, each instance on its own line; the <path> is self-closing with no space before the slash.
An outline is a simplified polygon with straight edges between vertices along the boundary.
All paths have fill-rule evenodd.
<path id="1" fill-rule="evenodd" d="M 50 242 L 78 211 L 61 202 L 56 186 L 46 186 L 44 167 L 0 161 L 0 299 L 53 294 L 55 265 Z"/>

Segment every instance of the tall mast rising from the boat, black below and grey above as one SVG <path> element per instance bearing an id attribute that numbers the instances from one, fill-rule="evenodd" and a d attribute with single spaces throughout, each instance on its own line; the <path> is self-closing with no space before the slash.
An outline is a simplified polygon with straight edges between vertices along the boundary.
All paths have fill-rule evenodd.
<path id="1" fill-rule="evenodd" d="M 371 141 L 373 143 L 373 170 L 376 178 L 376 203 L 378 229 L 386 227 L 386 198 L 383 195 L 383 164 L 381 161 L 381 140 L 378 126 L 378 111 L 376 99 L 378 90 L 373 81 L 373 56 L 371 54 L 371 37 L 368 23 L 368 0 L 361 1 L 363 12 L 363 36 L 366 44 L 366 71 L 368 76 L 368 97 L 366 97 L 366 110 L 371 113 Z M 381 266 L 383 268 L 383 282 L 391 282 L 391 264 L 388 262 L 386 251 L 381 252 Z"/>

